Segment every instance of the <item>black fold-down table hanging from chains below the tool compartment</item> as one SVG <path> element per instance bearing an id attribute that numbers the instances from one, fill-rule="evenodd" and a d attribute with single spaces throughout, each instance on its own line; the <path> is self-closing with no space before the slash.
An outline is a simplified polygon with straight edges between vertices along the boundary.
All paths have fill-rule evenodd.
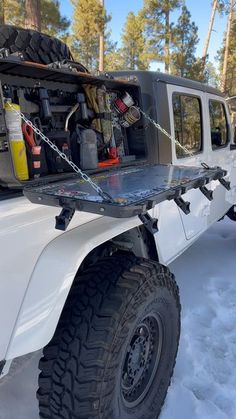
<path id="1" fill-rule="evenodd" d="M 74 211 L 128 218 L 145 214 L 154 205 L 173 199 L 187 214 L 189 203 L 181 196 L 190 189 L 200 188 L 206 198 L 212 200 L 212 191 L 205 185 L 211 180 L 219 180 L 229 189 L 229 182 L 223 179 L 226 173 L 219 167 L 144 165 L 117 168 L 91 176 L 111 200 L 100 196 L 78 175 L 72 175 L 69 180 L 26 187 L 24 194 L 33 203 L 62 207 L 67 223 L 57 223 L 56 227 L 64 230 Z"/>

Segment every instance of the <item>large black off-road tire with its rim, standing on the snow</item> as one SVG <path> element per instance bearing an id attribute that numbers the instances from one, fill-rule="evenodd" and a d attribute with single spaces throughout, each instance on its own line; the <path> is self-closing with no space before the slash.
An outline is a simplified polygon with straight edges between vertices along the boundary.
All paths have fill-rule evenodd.
<path id="1" fill-rule="evenodd" d="M 179 334 L 178 287 L 166 267 L 133 256 L 101 259 L 76 279 L 44 349 L 40 418 L 157 418 Z"/>

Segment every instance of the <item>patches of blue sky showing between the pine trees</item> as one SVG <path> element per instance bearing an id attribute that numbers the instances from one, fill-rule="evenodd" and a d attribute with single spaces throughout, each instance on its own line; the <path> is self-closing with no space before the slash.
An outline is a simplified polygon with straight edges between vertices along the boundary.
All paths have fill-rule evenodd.
<path id="1" fill-rule="evenodd" d="M 199 29 L 199 44 L 197 48 L 197 55 L 202 54 L 205 37 L 208 30 L 209 18 L 211 13 L 211 0 L 186 0 L 187 8 L 190 10 L 192 20 Z M 73 6 L 70 0 L 61 0 L 61 12 L 67 17 L 71 18 L 73 13 Z M 112 15 L 110 27 L 112 29 L 112 38 L 114 41 L 120 40 L 122 28 L 127 14 L 130 11 L 137 12 L 143 5 L 143 0 L 105 0 L 105 6 Z M 178 12 L 172 14 L 172 21 L 178 18 Z M 224 31 L 226 29 L 226 18 L 216 15 L 214 31 L 212 33 L 209 56 L 210 60 L 214 62 L 217 50 L 220 48 Z M 160 66 L 158 66 L 160 67 Z"/>

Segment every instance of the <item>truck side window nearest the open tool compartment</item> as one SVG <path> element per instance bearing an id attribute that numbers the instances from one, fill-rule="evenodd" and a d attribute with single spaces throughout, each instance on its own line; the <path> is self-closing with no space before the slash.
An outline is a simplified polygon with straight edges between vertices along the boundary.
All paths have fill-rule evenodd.
<path id="1" fill-rule="evenodd" d="M 199 153 L 202 150 L 200 99 L 195 96 L 174 93 L 173 112 L 176 140 L 191 153 Z M 176 145 L 176 155 L 178 158 L 187 157 L 178 145 Z"/>

